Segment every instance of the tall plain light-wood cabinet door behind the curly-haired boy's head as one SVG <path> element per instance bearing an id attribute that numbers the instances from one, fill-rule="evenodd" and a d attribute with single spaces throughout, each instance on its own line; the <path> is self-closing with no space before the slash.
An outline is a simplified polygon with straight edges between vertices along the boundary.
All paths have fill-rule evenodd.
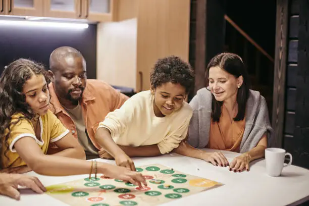
<path id="1" fill-rule="evenodd" d="M 190 0 L 139 0 L 137 25 L 140 91 L 150 88 L 150 72 L 159 58 L 175 55 L 189 60 Z"/>

